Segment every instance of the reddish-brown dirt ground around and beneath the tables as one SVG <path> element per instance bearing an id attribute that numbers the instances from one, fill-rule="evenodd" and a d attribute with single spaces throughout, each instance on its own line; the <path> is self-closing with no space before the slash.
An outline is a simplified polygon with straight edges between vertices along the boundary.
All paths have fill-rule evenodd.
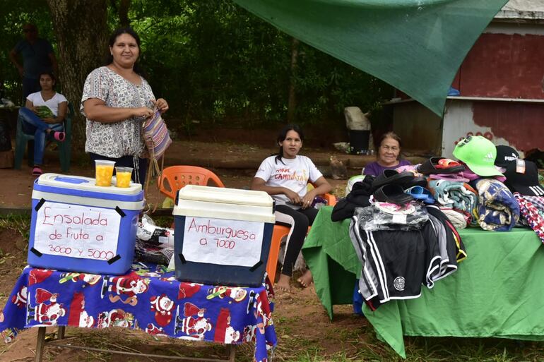
<path id="1" fill-rule="evenodd" d="M 189 155 L 193 152 L 196 155 L 206 155 L 211 159 L 224 158 L 225 155 L 230 160 L 247 159 L 248 155 L 254 155 L 254 158 L 262 159 L 263 155 L 269 155 L 273 148 L 232 145 L 228 143 L 183 143 L 178 145 Z M 323 152 L 329 152 L 325 150 Z M 45 171 L 61 173 L 58 161 L 55 157 L 46 157 Z M 175 161 L 172 161 L 175 162 Z M 206 167 L 205 164 L 203 164 Z M 212 168 L 225 186 L 230 188 L 246 188 L 249 186 L 254 175 L 255 169 L 221 169 Z M 71 168 L 71 174 L 81 176 L 93 176 L 94 170 L 89 166 L 75 164 Z M 359 170 L 351 170 L 353 174 Z M 0 207 L 30 207 L 32 182 L 35 177 L 30 175 L 30 168 L 23 160 L 21 170 L 0 169 Z M 333 180 L 329 178 L 333 189 L 337 194 L 343 193 L 345 180 Z M 147 198 L 150 203 L 160 202 L 162 197 L 158 195 L 154 188 L 148 193 Z M 1 217 L 0 217 L 1 220 Z M 13 224 L 13 222 L 12 222 Z M 17 223 L 16 223 L 17 224 Z M 6 303 L 11 289 L 16 282 L 21 270 L 25 267 L 26 253 L 28 249 L 28 231 L 24 227 L 15 229 L 6 229 L 0 224 L 0 275 L 3 282 L 0 283 L 0 308 Z M 296 278 L 296 275 L 295 275 Z M 293 279 L 293 285 L 297 284 Z M 276 299 L 276 310 L 273 313 L 273 320 L 276 324 L 278 333 L 278 348 L 276 356 L 278 360 L 289 360 L 292 356 L 292 348 L 307 348 L 312 354 L 319 356 L 330 356 L 343 353 L 349 356 L 355 353 L 357 346 L 346 343 L 346 340 L 365 339 L 365 332 L 372 327 L 367 325 L 365 318 L 360 318 L 352 313 L 351 306 L 335 307 L 335 320 L 329 321 L 324 308 L 321 306 L 313 286 L 302 289 L 300 286 L 295 288 L 292 296 Z M 312 326 L 308 328 L 307 326 Z M 57 329 L 55 327 L 48 329 L 48 334 L 52 336 Z M 170 339 L 160 339 L 155 341 L 142 332 L 133 332 L 128 330 L 114 331 L 96 331 L 70 329 L 69 336 L 75 336 L 69 339 L 69 342 L 83 343 L 87 346 L 109 346 L 112 349 L 122 348 L 126 351 L 140 351 L 143 353 L 162 354 L 172 353 L 171 351 L 189 351 L 194 356 L 225 356 L 224 347 L 211 344 L 204 344 L 198 347 L 202 350 L 191 351 L 192 346 L 183 342 L 172 342 Z M 372 333 L 371 333 L 372 334 Z M 35 339 L 37 329 L 27 330 L 21 333 L 11 344 L 0 345 L 0 361 L 34 361 L 35 358 Z M 348 335 L 348 339 L 346 339 Z M 289 341 L 289 342 L 288 342 Z M 297 342 L 300 341 L 300 342 Z M 172 344 L 173 343 L 173 344 Z M 307 345 L 307 347 L 305 346 Z M 293 347 L 295 346 L 295 347 Z M 237 352 L 237 361 L 250 361 L 252 358 L 252 345 L 241 346 Z M 176 352 L 176 353 L 177 353 Z M 326 359 L 326 358 L 325 358 Z M 169 359 L 131 357 L 114 354 L 104 354 L 98 352 L 66 350 L 66 349 L 46 349 L 44 361 L 170 361 Z"/>

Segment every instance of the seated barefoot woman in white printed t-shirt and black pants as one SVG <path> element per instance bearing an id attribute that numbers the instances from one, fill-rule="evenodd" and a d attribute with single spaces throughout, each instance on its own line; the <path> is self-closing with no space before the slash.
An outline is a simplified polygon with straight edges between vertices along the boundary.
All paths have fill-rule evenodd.
<path id="1" fill-rule="evenodd" d="M 252 181 L 252 190 L 266 191 L 276 201 L 276 223 L 291 228 L 285 246 L 285 258 L 276 289 L 290 291 L 292 267 L 300 253 L 309 225 L 317 215 L 312 207 L 317 195 L 331 191 L 331 185 L 306 156 L 298 155 L 304 135 L 299 126 L 288 125 L 278 135 L 280 152 L 264 159 Z M 307 191 L 307 183 L 315 186 Z M 274 275 L 270 276 L 275 277 Z M 312 283 L 307 270 L 298 279 L 302 286 Z"/>

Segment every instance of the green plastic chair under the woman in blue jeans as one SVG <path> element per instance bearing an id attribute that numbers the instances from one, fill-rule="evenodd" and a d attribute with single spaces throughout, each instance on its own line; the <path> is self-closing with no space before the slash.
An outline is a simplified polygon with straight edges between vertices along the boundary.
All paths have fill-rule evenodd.
<path id="1" fill-rule="evenodd" d="M 71 155 L 71 140 L 72 140 L 72 118 L 73 118 L 73 106 L 68 104 L 68 112 L 64 119 L 64 133 L 66 138 L 63 142 L 54 140 L 59 146 L 59 159 L 61 161 L 61 169 L 63 172 L 70 171 L 70 155 Z M 34 135 L 28 135 L 23 132 L 23 119 L 20 116 L 17 117 L 17 132 L 15 137 L 15 164 L 13 168 L 20 169 L 21 163 L 23 163 L 23 156 L 25 155 L 25 147 L 29 140 L 34 140 Z M 29 150 L 28 166 L 32 167 L 33 155 Z"/>

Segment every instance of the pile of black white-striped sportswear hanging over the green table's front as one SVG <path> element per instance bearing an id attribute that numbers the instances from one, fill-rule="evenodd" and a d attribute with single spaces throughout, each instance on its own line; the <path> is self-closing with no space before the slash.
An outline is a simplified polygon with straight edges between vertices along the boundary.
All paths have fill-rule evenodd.
<path id="1" fill-rule="evenodd" d="M 405 192 L 423 188 L 424 178 L 386 169 L 365 181 L 372 195 L 369 205 L 355 208 L 350 239 L 362 263 L 360 294 L 374 310 L 391 299 L 417 298 L 422 284 L 432 288 L 455 272 L 466 253 L 448 217 L 428 205 L 432 195 L 414 193 L 418 200 Z"/>

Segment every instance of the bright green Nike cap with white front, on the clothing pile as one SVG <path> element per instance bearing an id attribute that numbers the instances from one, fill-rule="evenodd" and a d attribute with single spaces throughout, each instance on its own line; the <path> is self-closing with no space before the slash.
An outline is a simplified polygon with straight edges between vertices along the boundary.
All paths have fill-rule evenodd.
<path id="1" fill-rule="evenodd" d="M 457 143 L 454 156 L 479 176 L 502 176 L 495 167 L 497 148 L 481 135 L 469 135 Z"/>

